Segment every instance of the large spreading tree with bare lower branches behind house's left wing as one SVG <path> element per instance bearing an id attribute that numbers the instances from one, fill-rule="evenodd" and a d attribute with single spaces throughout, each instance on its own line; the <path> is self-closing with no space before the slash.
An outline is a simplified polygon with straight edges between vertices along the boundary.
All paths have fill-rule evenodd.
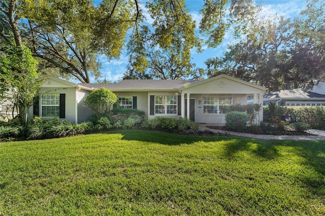
<path id="1" fill-rule="evenodd" d="M 35 57 L 83 83 L 101 75 L 99 55 L 108 60 L 120 55 L 140 13 L 137 0 L 104 0 L 95 6 L 90 0 L 4 0 L 1 6 L 1 22 L 13 23 L 15 40 L 21 42 L 23 35 Z M 11 43 L 5 34 L 0 36 Z"/>

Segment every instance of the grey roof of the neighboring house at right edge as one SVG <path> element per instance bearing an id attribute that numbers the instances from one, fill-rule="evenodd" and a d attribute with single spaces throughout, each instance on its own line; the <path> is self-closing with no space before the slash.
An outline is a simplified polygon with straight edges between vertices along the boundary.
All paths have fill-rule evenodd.
<path id="1" fill-rule="evenodd" d="M 325 98 L 325 95 L 314 92 L 304 92 L 301 89 L 293 89 L 269 93 L 264 97 L 264 99 L 272 98 Z"/>

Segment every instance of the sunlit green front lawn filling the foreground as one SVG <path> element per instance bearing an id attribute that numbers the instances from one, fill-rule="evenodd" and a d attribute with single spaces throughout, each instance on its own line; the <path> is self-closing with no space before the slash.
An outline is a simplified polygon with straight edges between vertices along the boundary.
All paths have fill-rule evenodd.
<path id="1" fill-rule="evenodd" d="M 101 214 L 325 214 L 325 142 L 125 130 L 0 143 L 0 215 Z"/>

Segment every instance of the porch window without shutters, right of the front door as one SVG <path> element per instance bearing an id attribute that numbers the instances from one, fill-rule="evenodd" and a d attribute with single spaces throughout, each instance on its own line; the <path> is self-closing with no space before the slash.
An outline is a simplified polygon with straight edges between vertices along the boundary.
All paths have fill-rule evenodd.
<path id="1" fill-rule="evenodd" d="M 219 113 L 219 106 L 233 105 L 233 97 L 204 97 L 203 109 L 204 114 Z"/>

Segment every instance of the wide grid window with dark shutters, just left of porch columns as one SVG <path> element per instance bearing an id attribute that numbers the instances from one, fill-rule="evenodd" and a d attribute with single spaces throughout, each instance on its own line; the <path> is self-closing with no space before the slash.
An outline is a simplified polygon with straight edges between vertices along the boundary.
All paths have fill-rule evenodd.
<path id="1" fill-rule="evenodd" d="M 177 115 L 177 96 L 170 96 L 170 95 L 155 96 L 154 113 Z"/>

